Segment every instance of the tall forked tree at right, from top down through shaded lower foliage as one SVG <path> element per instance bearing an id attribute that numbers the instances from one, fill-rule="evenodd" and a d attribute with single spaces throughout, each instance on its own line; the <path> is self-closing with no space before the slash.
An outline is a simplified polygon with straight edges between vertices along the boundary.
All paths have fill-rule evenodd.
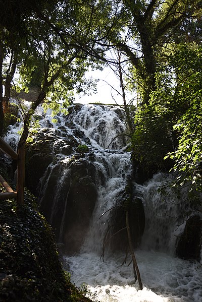
<path id="1" fill-rule="evenodd" d="M 177 150 L 181 133 L 174 126 L 187 110 L 192 110 L 188 96 L 181 95 L 185 84 L 178 76 L 188 82 L 189 78 L 176 68 L 174 57 L 181 43 L 200 43 L 201 3 L 125 0 L 121 10 L 125 11 L 123 32 L 113 37 L 111 45 L 130 60 L 133 89 L 140 95 L 132 150 L 146 170 L 168 171 L 174 155 L 166 160 L 164 157 Z M 181 66 L 187 70 L 190 62 L 184 61 Z"/>

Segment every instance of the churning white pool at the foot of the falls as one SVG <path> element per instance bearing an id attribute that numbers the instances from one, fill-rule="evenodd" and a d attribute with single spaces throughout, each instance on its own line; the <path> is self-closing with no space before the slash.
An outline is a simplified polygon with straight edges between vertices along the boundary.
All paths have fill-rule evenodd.
<path id="1" fill-rule="evenodd" d="M 135 252 L 143 289 L 135 283 L 132 264 L 122 265 L 125 255 L 107 256 L 104 262 L 95 253 L 64 256 L 72 280 L 85 282 L 91 298 L 102 302 L 200 302 L 202 269 L 198 263 L 177 259 L 165 253 Z"/>

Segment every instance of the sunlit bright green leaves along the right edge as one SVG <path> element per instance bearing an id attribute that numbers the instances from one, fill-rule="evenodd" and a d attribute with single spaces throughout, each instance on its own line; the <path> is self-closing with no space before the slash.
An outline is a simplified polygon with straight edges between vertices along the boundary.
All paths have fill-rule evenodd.
<path id="1" fill-rule="evenodd" d="M 175 161 L 178 176 L 173 186 L 189 187 L 190 198 L 199 198 L 202 189 L 202 48 L 196 44 L 182 45 L 173 55 L 178 87 L 176 100 L 187 106 L 174 125 L 178 133 L 178 148 L 169 153 Z"/>

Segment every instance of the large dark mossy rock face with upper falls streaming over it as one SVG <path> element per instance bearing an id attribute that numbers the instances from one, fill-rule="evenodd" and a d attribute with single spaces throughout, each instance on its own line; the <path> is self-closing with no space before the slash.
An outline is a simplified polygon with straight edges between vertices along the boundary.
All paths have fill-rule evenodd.
<path id="1" fill-rule="evenodd" d="M 77 252 L 84 242 L 99 188 L 115 177 L 116 171 L 120 170 L 117 177 L 121 179 L 127 172 L 120 163 L 123 151 L 117 157 L 112 150 L 126 146 L 122 115 L 123 111 L 113 106 L 86 110 L 75 105 L 68 116 L 57 117 L 57 127 L 46 121 L 46 127 L 28 144 L 25 185 L 38 196 L 57 240 L 70 253 Z M 104 151 L 108 147 L 112 151 Z"/>

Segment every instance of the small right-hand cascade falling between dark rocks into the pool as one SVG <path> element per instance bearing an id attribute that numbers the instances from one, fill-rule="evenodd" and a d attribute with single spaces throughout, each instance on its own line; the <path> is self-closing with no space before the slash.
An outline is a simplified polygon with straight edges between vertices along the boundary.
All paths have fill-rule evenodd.
<path id="1" fill-rule="evenodd" d="M 174 196 L 164 196 L 159 189 L 170 181 L 170 175 L 159 173 L 143 186 L 135 185 L 146 216 L 141 248 L 175 254 L 176 237 L 184 228 L 182 202 Z"/>

